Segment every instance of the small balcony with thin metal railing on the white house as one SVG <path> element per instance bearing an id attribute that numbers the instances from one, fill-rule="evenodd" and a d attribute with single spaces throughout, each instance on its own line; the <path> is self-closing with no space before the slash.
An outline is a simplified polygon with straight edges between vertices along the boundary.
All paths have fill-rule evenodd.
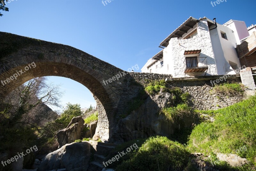
<path id="1" fill-rule="evenodd" d="M 184 63 L 186 64 L 185 75 L 190 72 L 207 72 L 208 70 L 206 57 L 186 57 Z"/>

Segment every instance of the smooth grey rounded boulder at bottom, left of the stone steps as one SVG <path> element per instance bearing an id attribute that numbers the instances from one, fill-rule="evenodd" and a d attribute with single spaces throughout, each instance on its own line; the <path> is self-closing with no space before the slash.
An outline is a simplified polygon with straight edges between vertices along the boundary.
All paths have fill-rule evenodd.
<path id="1" fill-rule="evenodd" d="M 87 170 L 91 145 L 88 142 L 71 143 L 49 153 L 37 171 L 66 168 L 67 171 Z"/>

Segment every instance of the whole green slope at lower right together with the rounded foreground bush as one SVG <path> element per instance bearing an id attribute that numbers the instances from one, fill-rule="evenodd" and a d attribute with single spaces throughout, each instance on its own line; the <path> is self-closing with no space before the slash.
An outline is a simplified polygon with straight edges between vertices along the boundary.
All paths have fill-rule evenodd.
<path id="1" fill-rule="evenodd" d="M 166 137 L 151 137 L 138 145 L 137 150 L 128 153 L 112 167 L 116 168 L 117 171 L 127 169 L 194 170 L 195 168 L 189 160 L 191 152 L 202 152 L 205 156 L 214 156 L 217 152 L 222 152 L 237 154 L 251 163 L 243 168 L 232 168 L 222 162 L 216 166 L 220 170 L 252 170 L 251 168 L 255 167 L 256 164 L 255 102 L 256 96 L 252 96 L 248 100 L 227 108 L 199 111 L 214 116 L 215 121 L 213 123 L 205 121 L 198 124 L 192 130 L 187 145 L 171 141 Z M 190 133 L 190 131 L 188 132 Z M 183 140 L 184 136 L 180 136 Z M 179 141 L 180 138 L 175 139 Z M 136 140 L 130 144 L 134 142 Z M 118 151 L 122 150 L 125 150 L 124 145 L 118 149 Z"/>

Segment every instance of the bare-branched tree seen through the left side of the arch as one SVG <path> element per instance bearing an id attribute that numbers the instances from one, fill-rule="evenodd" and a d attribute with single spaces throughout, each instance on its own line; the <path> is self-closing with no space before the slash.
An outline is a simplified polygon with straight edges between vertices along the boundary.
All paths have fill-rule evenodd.
<path id="1" fill-rule="evenodd" d="M 61 96 L 59 85 L 47 84 L 45 77 L 34 78 L 7 96 L 5 106 L 9 112 L 8 115 L 4 115 L 4 119 L 8 120 L 10 127 L 15 124 L 36 127 L 36 125 L 53 121 L 58 115 L 46 104 L 60 107 Z"/>

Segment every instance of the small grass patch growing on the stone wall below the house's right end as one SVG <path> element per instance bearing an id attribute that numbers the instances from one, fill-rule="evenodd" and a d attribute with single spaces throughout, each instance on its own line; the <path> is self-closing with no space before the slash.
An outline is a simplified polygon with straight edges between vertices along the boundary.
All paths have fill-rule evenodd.
<path id="1" fill-rule="evenodd" d="M 237 94 L 237 93 L 244 93 L 245 86 L 243 84 L 239 83 L 224 83 L 220 85 L 215 85 L 213 87 L 213 91 L 215 93 L 220 93 L 220 94 Z M 219 96 L 217 96 L 219 97 Z M 220 100 L 220 99 L 219 99 Z"/>

